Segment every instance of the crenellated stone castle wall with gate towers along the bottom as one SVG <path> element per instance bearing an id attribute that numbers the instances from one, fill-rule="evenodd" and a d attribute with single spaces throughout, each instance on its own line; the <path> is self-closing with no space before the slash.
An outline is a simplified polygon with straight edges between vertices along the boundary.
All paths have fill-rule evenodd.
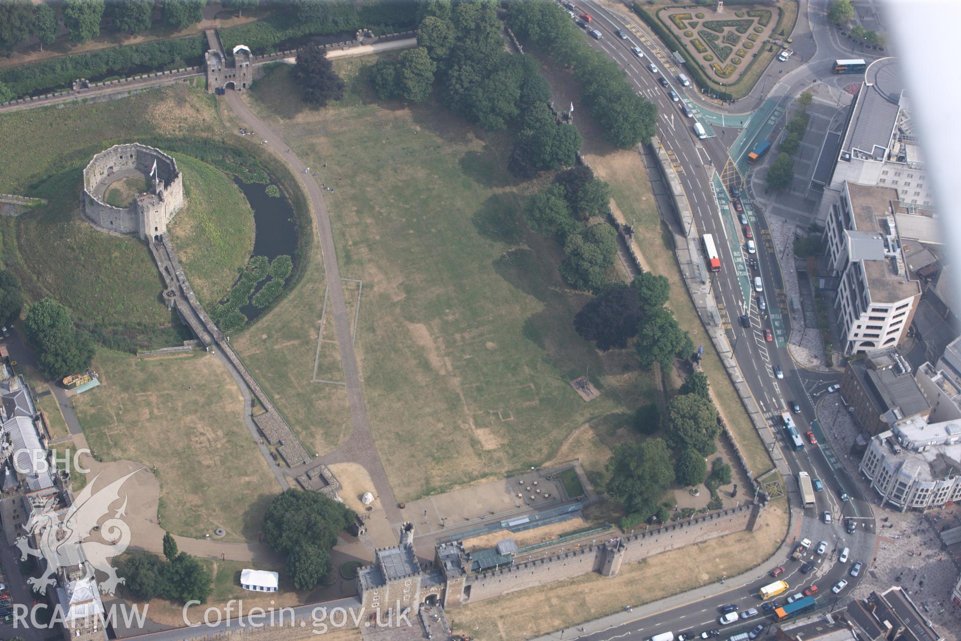
<path id="1" fill-rule="evenodd" d="M 614 577 L 624 563 L 636 563 L 731 532 L 752 531 L 762 510 L 761 505 L 740 505 L 656 530 L 602 538 L 559 554 L 536 558 L 506 555 L 509 560 L 504 565 L 485 570 L 478 569 L 475 556 L 479 553 L 467 552 L 459 541 L 436 545 L 433 560 L 423 566 L 414 554 L 414 528 L 407 523 L 401 531 L 400 545 L 377 550 L 374 565 L 357 571 L 357 594 L 368 609 L 400 604 L 402 609 L 409 607 L 417 613 L 424 604 L 445 608 L 473 604 L 591 572 Z"/>

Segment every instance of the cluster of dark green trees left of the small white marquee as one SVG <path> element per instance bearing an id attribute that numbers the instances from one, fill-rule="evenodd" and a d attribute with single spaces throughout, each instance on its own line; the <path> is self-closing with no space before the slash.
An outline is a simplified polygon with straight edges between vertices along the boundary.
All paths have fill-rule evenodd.
<path id="1" fill-rule="evenodd" d="M 213 590 L 210 573 L 196 558 L 178 551 L 170 532 L 163 535 L 163 556 L 136 554 L 127 558 L 123 575 L 134 596 L 143 601 L 206 602 Z"/>

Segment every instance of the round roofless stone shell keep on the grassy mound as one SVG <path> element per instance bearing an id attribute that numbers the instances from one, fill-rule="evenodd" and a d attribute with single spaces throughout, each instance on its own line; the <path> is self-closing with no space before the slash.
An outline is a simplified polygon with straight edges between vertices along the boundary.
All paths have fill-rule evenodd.
<path id="1" fill-rule="evenodd" d="M 157 170 L 151 177 L 155 162 Z M 113 183 L 136 177 L 150 181 L 147 193 L 137 194 L 127 208 L 105 202 Z M 84 214 L 95 227 L 107 232 L 160 240 L 167 223 L 183 207 L 184 177 L 177 161 L 159 149 L 138 142 L 113 145 L 94 156 L 84 169 Z"/>

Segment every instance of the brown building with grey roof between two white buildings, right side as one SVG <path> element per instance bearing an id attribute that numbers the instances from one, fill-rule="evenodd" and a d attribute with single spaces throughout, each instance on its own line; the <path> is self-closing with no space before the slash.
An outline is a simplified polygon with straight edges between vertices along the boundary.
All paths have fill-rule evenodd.
<path id="1" fill-rule="evenodd" d="M 850 360 L 841 379 L 841 396 L 858 424 L 871 434 L 888 431 L 912 416 L 926 419 L 931 413 L 911 366 L 893 347 Z"/>

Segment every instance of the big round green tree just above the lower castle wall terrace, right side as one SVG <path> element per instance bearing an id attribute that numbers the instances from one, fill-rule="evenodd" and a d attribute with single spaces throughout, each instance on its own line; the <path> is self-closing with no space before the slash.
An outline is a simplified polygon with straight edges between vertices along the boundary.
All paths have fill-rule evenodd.
<path id="1" fill-rule="evenodd" d="M 614 448 L 607 461 L 607 493 L 620 501 L 628 513 L 646 519 L 674 482 L 674 466 L 661 438 L 627 443 Z"/>

